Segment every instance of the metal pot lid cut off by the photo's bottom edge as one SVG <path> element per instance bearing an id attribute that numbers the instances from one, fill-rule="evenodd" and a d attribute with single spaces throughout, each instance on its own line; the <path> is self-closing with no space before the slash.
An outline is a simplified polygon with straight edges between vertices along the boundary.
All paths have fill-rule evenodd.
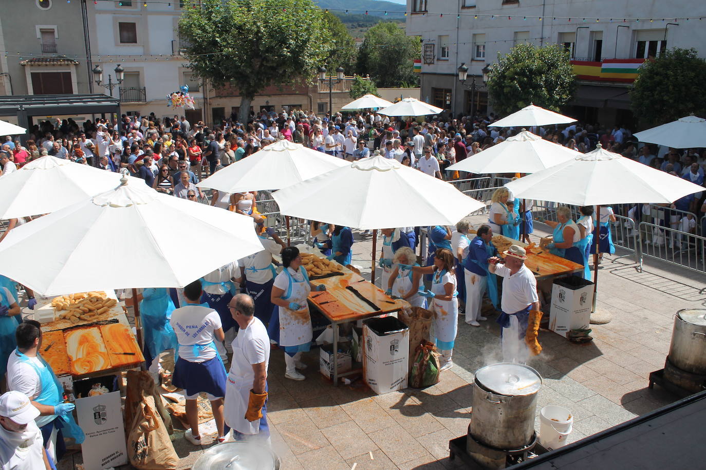
<path id="1" fill-rule="evenodd" d="M 203 452 L 192 470 L 276 470 L 280 459 L 269 447 L 251 442 L 223 442 Z"/>

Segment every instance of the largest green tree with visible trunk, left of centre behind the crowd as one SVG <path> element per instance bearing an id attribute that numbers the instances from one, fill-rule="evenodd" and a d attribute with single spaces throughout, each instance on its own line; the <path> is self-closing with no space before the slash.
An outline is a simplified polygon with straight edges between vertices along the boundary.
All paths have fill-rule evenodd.
<path id="1" fill-rule="evenodd" d="M 323 11 L 311 0 L 202 0 L 184 9 L 179 37 L 198 76 L 239 90 L 240 121 L 268 86 L 311 80 L 331 49 Z"/>

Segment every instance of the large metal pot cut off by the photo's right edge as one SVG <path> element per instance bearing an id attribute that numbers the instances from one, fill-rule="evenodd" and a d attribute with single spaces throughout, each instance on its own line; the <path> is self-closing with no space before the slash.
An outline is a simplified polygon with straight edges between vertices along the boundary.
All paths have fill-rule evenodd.
<path id="1" fill-rule="evenodd" d="M 674 315 L 669 361 L 686 372 L 706 375 L 706 308 L 684 308 Z"/>

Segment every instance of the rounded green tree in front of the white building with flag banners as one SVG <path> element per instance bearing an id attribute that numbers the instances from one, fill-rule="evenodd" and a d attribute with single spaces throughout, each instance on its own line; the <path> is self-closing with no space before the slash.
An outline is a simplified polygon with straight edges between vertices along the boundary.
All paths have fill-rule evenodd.
<path id="1" fill-rule="evenodd" d="M 532 103 L 558 111 L 570 102 L 576 76 L 569 54 L 558 44 L 517 44 L 498 59 L 488 78 L 493 109 L 510 114 Z"/>

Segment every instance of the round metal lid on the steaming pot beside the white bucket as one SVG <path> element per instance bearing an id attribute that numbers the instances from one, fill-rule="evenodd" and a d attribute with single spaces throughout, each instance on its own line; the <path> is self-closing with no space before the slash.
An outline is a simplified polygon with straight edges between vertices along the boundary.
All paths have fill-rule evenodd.
<path id="1" fill-rule="evenodd" d="M 542 387 L 542 376 L 530 366 L 501 362 L 476 370 L 476 382 L 492 393 L 530 395 Z"/>

